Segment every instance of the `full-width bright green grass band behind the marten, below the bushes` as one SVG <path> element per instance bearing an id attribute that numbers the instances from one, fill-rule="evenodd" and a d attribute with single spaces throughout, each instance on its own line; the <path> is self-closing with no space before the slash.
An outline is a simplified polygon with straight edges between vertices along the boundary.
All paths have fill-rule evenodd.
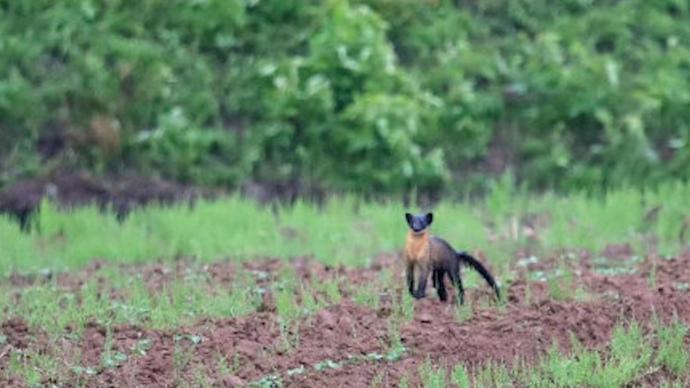
<path id="1" fill-rule="evenodd" d="M 690 241 L 688 195 L 690 184 L 683 183 L 565 197 L 530 196 L 503 183 L 484 200 L 438 204 L 433 230 L 458 249 L 483 252 L 499 272 L 516 249 L 527 246 L 519 221 L 535 214 L 547 221 L 537 230 L 533 250 L 599 252 L 616 242 L 640 249 L 653 236 L 658 242 L 650 248 L 670 256 Z M 648 217 L 655 207 L 656 217 Z M 408 210 L 419 209 L 346 196 L 321 208 L 297 201 L 273 211 L 233 196 L 193 207 L 148 207 L 118 223 L 95 207 L 62 211 L 45 202 L 31 234 L 0 217 L 0 275 L 70 270 L 95 258 L 133 263 L 186 256 L 208 262 L 312 255 L 327 264 L 364 265 L 380 252 L 401 248 Z"/>

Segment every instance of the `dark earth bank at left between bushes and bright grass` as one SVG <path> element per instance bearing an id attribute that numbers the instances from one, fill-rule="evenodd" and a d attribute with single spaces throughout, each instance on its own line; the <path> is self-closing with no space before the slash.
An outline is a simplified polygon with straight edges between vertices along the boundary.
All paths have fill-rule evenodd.
<path id="1" fill-rule="evenodd" d="M 292 203 L 298 198 L 320 204 L 327 197 L 324 189 L 301 182 L 248 181 L 234 191 L 263 204 L 276 201 Z M 187 185 L 136 173 L 96 177 L 87 170 L 61 168 L 0 187 L 0 215 L 4 213 L 16 218 L 21 228 L 27 230 L 33 215 L 40 211 L 44 198 L 50 198 L 62 207 L 95 204 L 122 219 L 134 208 L 148 204 L 193 202 L 198 198 L 216 198 L 230 192 L 220 186 Z"/>

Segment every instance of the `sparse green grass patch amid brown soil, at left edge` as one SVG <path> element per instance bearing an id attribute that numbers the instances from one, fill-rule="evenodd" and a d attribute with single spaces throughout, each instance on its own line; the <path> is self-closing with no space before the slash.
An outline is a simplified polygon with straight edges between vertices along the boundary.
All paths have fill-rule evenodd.
<path id="1" fill-rule="evenodd" d="M 96 280 L 76 290 L 63 289 L 54 282 L 19 289 L 0 286 L 0 311 L 59 335 L 69 332 L 68 327 L 78 333 L 89 321 L 106 326 L 128 323 L 172 328 L 199 317 L 246 315 L 255 311 L 259 303 L 253 280 L 246 276 L 238 275 L 231 287 L 190 276 L 171 281 L 160 292 L 148 290 L 138 277 L 123 280 L 118 275 L 113 279 L 108 286 L 121 294 L 119 298 L 110 298 L 110 288 L 100 287 Z"/>

